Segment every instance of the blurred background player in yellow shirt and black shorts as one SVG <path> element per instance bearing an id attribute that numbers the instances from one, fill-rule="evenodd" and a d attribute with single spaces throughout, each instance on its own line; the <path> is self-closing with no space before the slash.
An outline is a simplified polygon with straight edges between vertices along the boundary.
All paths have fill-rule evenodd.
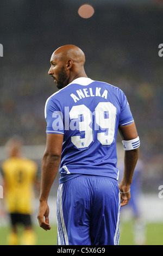
<path id="1" fill-rule="evenodd" d="M 22 156 L 23 141 L 14 136 L 5 145 L 8 159 L 2 163 L 3 190 L 7 212 L 11 221 L 8 245 L 35 245 L 36 235 L 32 227 L 34 184 L 38 186 L 37 164 Z M 18 225 L 23 225 L 21 241 Z"/>

